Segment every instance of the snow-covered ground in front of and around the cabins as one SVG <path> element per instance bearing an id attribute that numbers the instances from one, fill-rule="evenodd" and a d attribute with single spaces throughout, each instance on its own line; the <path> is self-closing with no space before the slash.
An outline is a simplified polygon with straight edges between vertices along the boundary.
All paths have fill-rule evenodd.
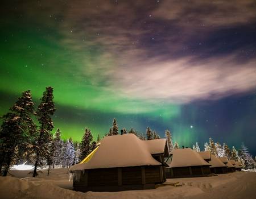
<path id="1" fill-rule="evenodd" d="M 256 172 L 235 172 L 212 177 L 168 179 L 152 190 L 124 192 L 75 192 L 69 181 L 68 169 L 47 170 L 36 178 L 30 171 L 10 171 L 0 177 L 0 198 L 256 198 Z M 18 179 L 19 178 L 19 179 Z M 171 186 L 180 182 L 182 186 Z"/>

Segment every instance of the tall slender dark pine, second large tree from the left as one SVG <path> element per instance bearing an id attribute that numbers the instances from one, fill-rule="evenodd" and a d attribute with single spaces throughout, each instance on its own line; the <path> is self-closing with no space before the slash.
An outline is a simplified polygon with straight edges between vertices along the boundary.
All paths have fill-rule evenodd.
<path id="1" fill-rule="evenodd" d="M 38 110 L 36 111 L 40 126 L 38 133 L 35 135 L 36 142 L 34 143 L 34 149 L 36 156 L 33 177 L 36 177 L 38 166 L 42 165 L 42 160 L 45 159 L 49 153 L 48 143 L 51 141 L 51 130 L 54 127 L 51 116 L 54 112 L 53 88 L 47 87 L 41 98 Z"/>

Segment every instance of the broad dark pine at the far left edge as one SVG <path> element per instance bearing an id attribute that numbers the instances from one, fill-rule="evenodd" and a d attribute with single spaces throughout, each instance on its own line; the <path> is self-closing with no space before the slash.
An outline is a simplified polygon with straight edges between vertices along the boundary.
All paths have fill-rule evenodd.
<path id="1" fill-rule="evenodd" d="M 0 130 L 0 151 L 2 151 L 0 153 L 3 160 L 0 160 L 0 171 L 2 165 L 5 165 L 3 176 L 7 175 L 10 165 L 15 163 L 14 160 L 22 159 L 31 147 L 30 139 L 36 131 L 36 125 L 31 119 L 31 115 L 35 113 L 30 90 L 22 92 L 22 96 L 18 98 L 10 111 L 10 113 L 3 115 L 3 125 Z"/>

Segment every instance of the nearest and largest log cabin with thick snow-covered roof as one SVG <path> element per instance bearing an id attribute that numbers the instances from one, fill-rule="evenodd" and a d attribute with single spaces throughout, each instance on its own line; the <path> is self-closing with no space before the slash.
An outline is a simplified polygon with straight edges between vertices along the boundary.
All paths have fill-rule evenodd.
<path id="1" fill-rule="evenodd" d="M 168 157 L 166 139 L 106 136 L 89 161 L 69 169 L 73 188 L 82 192 L 155 188 L 166 181 L 164 157 Z"/>

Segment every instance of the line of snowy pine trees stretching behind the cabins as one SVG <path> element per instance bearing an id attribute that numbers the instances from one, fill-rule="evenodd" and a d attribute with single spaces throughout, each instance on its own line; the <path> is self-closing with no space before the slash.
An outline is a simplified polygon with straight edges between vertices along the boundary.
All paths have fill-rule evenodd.
<path id="1" fill-rule="evenodd" d="M 97 142 L 93 141 L 93 135 L 89 128 L 85 128 L 81 142 L 74 143 L 72 138 L 65 142 L 61 139 L 61 131 L 57 128 L 55 134 L 52 134 L 54 128 L 52 115 L 55 113 L 55 103 L 53 102 L 53 88 L 47 87 L 40 98 L 39 106 L 35 109 L 32 101 L 31 92 L 27 90 L 10 107 L 8 113 L 1 117 L 2 125 L 0 128 L 0 173 L 6 176 L 9 168 L 13 164 L 28 160 L 34 165 L 32 176 L 38 175 L 38 168 L 52 167 L 61 165 L 69 167 L 79 163 L 90 154 L 100 142 L 100 135 L 97 136 Z M 35 122 L 36 120 L 37 122 Z M 141 140 L 159 139 L 158 132 L 146 128 L 146 132 L 137 132 L 134 128 L 129 131 L 126 128 L 121 129 L 121 135 L 131 133 L 138 136 Z M 118 135 L 118 123 L 114 118 L 112 127 L 105 136 Z M 171 132 L 165 131 L 167 146 L 169 152 L 179 148 L 179 144 L 172 142 Z M 232 150 L 224 143 L 214 143 L 209 139 L 209 144 L 204 144 L 204 150 L 210 151 L 218 157 L 227 156 L 229 159 L 240 161 L 244 168 L 254 168 L 255 161 L 250 155 L 248 148 L 242 144 L 241 150 Z M 200 151 L 199 144 L 193 145 L 193 150 Z"/>

